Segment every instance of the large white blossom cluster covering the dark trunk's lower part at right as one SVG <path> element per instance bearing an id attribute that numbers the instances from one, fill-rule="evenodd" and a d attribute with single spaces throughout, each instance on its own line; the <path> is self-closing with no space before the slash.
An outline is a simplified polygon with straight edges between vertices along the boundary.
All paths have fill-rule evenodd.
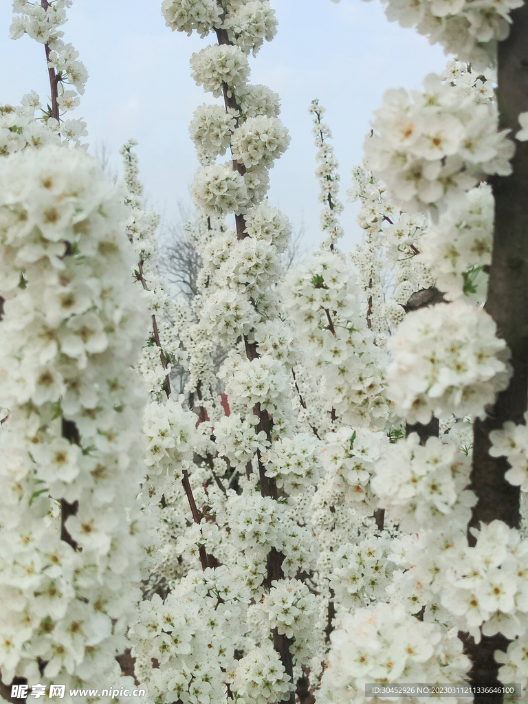
<path id="1" fill-rule="evenodd" d="M 528 543 L 498 520 L 471 532 L 474 547 L 467 544 L 465 524 L 396 541 L 389 557 L 402 571 L 394 572 L 387 588 L 391 602 L 409 614 L 424 608 L 425 621 L 467 631 L 476 643 L 482 634 L 522 636 L 528 626 Z"/>

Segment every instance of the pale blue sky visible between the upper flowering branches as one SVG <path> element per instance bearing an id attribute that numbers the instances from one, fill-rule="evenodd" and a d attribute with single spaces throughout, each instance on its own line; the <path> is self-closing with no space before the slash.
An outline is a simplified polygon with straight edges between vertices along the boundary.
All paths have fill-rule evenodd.
<path id="1" fill-rule="evenodd" d="M 439 73 L 446 57 L 414 30 L 389 23 L 379 0 L 271 0 L 279 27 L 275 39 L 250 57 L 251 82 L 278 92 L 280 115 L 291 134 L 288 151 L 270 172 L 272 206 L 294 230 L 304 222 L 303 247 L 322 238 L 315 179 L 310 101 L 327 108 L 325 120 L 346 201 L 351 168 L 360 163 L 363 137 L 386 89 L 419 89 L 425 75 Z M 89 151 L 105 145 L 115 169 L 120 146 L 133 137 L 149 205 L 165 224 L 191 205 L 189 187 L 198 166 L 188 126 L 196 106 L 214 102 L 191 79 L 189 59 L 213 36 L 171 32 L 161 0 L 75 0 L 62 29 L 80 53 L 90 77 L 80 107 L 69 117 L 87 122 Z M 0 103 L 17 104 L 34 89 L 49 95 L 44 46 L 30 37 L 8 39 L 11 2 L 0 0 Z M 357 204 L 346 204 L 343 248 L 360 241 Z"/>

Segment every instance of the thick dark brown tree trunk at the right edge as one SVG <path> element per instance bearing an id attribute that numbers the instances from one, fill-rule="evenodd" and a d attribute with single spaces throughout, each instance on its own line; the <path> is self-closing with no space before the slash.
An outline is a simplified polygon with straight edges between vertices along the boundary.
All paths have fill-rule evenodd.
<path id="1" fill-rule="evenodd" d="M 511 13 L 510 36 L 498 42 L 498 109 L 500 129 L 519 129 L 520 113 L 528 111 L 528 5 Z M 528 142 L 516 142 L 512 160 L 513 174 L 493 177 L 495 196 L 494 246 L 489 272 L 486 311 L 495 320 L 498 335 L 511 350 L 513 377 L 510 386 L 498 395 L 485 420 L 474 423 L 473 468 L 471 489 L 477 494 L 470 526 L 498 519 L 510 527 L 520 524 L 520 491 L 504 479 L 508 469 L 505 458 L 489 455 L 489 433 L 501 429 L 507 420 L 524 422 L 528 395 Z M 468 541 L 475 539 L 468 532 Z M 465 643 L 473 661 L 470 678 L 473 684 L 495 686 L 498 666 L 494 650 L 505 650 L 504 636 L 482 637 L 478 646 L 472 639 Z M 502 703 L 503 697 L 481 698 L 475 703 Z"/>

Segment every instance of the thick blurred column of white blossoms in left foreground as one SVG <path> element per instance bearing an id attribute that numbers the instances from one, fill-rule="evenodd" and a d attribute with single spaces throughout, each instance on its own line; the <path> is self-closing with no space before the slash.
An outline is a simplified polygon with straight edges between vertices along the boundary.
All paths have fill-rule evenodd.
<path id="1" fill-rule="evenodd" d="M 132 365 L 148 324 L 127 208 L 84 151 L 56 146 L 2 158 L 0 192 L 2 677 L 117 683 L 139 596 Z"/>

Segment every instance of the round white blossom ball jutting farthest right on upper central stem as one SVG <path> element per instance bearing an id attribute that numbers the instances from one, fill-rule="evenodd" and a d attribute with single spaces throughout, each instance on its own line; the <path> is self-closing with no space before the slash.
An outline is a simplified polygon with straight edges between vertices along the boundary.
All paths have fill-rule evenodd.
<path id="1" fill-rule="evenodd" d="M 279 118 L 258 115 L 234 131 L 231 140 L 233 158 L 247 169 L 256 166 L 271 168 L 273 161 L 288 149 L 288 130 Z"/>

